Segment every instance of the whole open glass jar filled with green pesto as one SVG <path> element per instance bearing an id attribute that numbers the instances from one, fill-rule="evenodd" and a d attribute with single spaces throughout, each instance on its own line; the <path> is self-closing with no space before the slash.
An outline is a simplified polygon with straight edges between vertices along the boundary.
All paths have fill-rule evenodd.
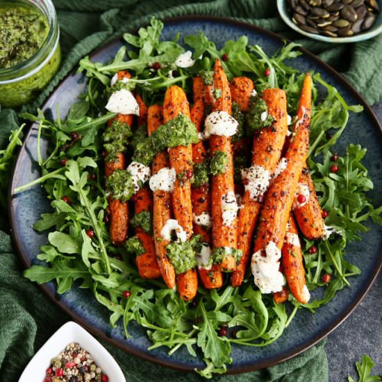
<path id="1" fill-rule="evenodd" d="M 59 31 L 51 0 L 0 0 L 0 105 L 33 101 L 60 66 Z"/>

